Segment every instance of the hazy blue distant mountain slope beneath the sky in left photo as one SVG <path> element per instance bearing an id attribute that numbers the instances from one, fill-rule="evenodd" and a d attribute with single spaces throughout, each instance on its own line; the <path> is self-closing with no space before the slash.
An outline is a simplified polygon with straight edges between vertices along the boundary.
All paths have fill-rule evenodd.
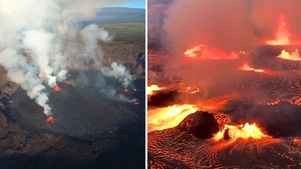
<path id="1" fill-rule="evenodd" d="M 98 8 L 96 17 L 83 23 L 113 24 L 128 22 L 145 22 L 145 9 L 123 7 Z"/>

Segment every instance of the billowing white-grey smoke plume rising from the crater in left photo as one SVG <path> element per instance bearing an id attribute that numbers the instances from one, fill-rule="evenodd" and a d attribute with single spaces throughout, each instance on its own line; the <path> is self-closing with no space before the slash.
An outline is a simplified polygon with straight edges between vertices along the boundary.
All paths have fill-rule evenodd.
<path id="1" fill-rule="evenodd" d="M 8 78 L 20 84 L 49 116 L 51 108 L 45 88 L 53 88 L 57 80 L 66 79 L 68 63 L 79 53 L 75 46 L 78 38 L 84 42 L 85 57 L 93 60 L 97 68 L 105 65 L 98 41 L 113 37 L 97 25 L 78 30 L 80 22 L 94 17 L 96 7 L 125 2 L 128 1 L 1 0 L 0 64 L 8 71 Z M 128 85 L 132 76 L 123 69 L 117 64 L 109 72 L 119 72 L 111 74 Z"/>

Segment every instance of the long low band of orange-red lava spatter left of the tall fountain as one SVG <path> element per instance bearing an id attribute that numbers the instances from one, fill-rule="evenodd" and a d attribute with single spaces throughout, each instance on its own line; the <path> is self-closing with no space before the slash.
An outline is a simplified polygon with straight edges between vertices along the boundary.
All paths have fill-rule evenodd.
<path id="1" fill-rule="evenodd" d="M 245 52 L 240 52 L 245 54 Z M 194 46 L 193 48 L 187 49 L 183 54 L 187 57 L 195 57 L 200 54 L 199 58 L 209 59 L 209 60 L 218 60 L 218 59 L 237 59 L 240 53 L 236 54 L 231 52 L 227 54 L 225 51 L 219 48 L 208 48 L 206 45 L 201 44 Z"/>

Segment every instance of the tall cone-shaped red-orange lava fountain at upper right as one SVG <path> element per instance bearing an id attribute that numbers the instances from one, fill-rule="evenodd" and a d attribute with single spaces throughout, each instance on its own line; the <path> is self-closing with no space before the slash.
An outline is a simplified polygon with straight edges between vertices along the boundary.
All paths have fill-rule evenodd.
<path id="1" fill-rule="evenodd" d="M 292 35 L 287 20 L 283 14 L 280 14 L 277 19 L 276 29 L 274 31 L 274 39 L 265 41 L 269 45 L 297 45 L 301 41 L 295 40 Z"/>

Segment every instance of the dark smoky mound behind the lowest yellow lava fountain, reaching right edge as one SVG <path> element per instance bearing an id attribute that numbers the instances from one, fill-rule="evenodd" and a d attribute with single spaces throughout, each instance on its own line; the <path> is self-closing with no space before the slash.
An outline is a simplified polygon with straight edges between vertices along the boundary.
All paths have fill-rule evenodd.
<path id="1" fill-rule="evenodd" d="M 227 112 L 235 123 L 256 122 L 273 137 L 301 136 L 301 107 L 288 102 L 276 105 L 238 104 Z"/>

